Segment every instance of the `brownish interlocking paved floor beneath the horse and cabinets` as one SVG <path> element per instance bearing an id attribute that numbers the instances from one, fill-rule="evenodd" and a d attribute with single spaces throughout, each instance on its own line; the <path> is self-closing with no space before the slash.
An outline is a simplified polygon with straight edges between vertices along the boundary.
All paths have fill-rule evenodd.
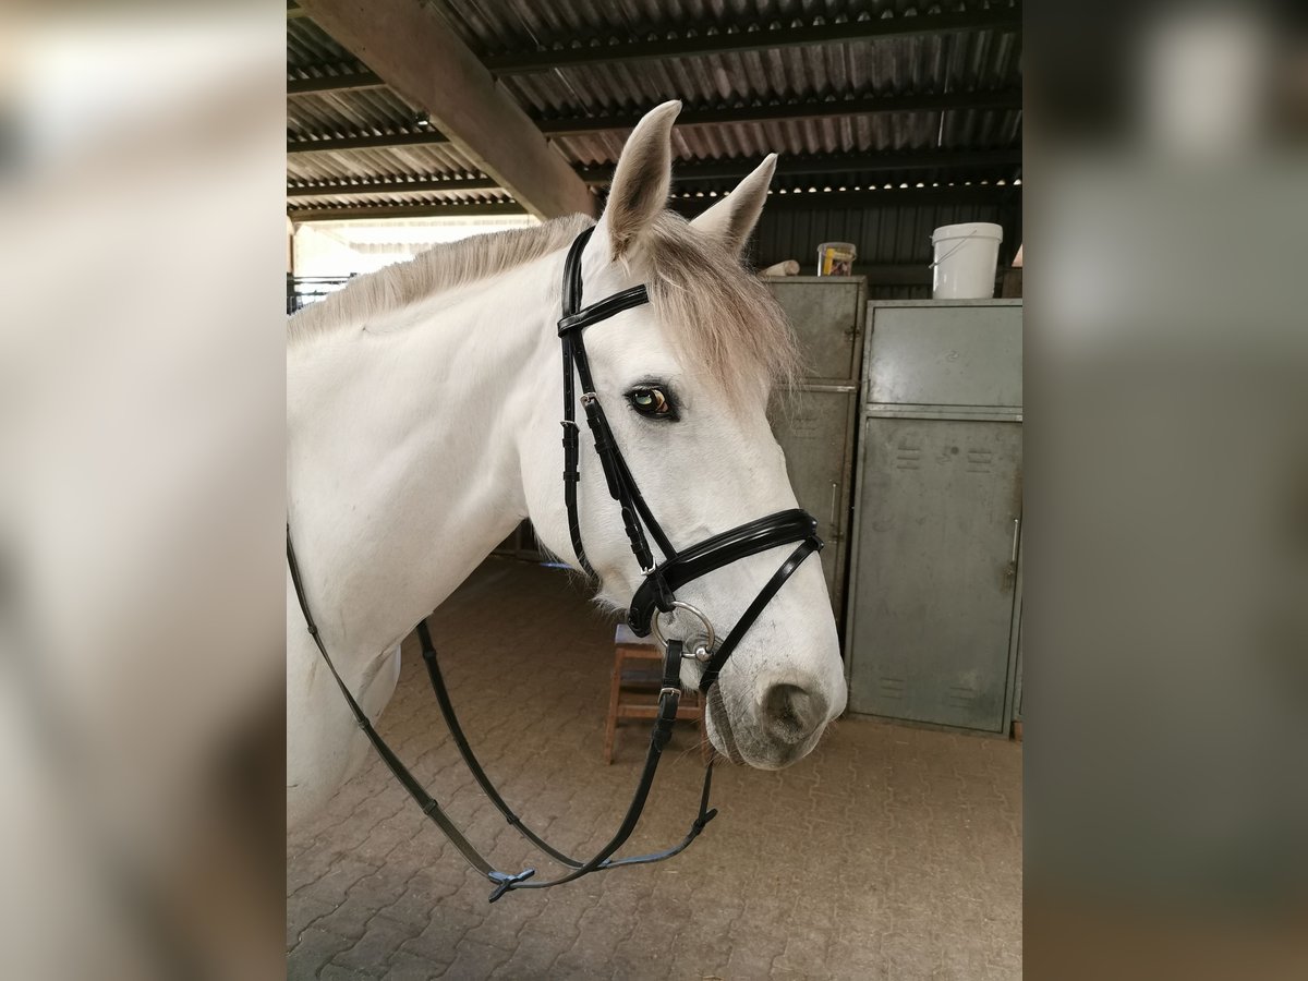
<path id="1" fill-rule="evenodd" d="M 510 804 L 590 854 L 616 828 L 642 722 L 603 763 L 612 623 L 566 573 L 492 559 L 433 617 L 464 729 Z M 416 640 L 381 730 L 502 869 L 534 861 L 443 731 Z M 701 777 L 679 723 L 629 848 L 680 840 Z M 370 763 L 288 840 L 293 978 L 1018 978 L 1022 749 L 838 721 L 781 773 L 719 765 L 683 855 L 487 903 L 485 882 Z"/>

